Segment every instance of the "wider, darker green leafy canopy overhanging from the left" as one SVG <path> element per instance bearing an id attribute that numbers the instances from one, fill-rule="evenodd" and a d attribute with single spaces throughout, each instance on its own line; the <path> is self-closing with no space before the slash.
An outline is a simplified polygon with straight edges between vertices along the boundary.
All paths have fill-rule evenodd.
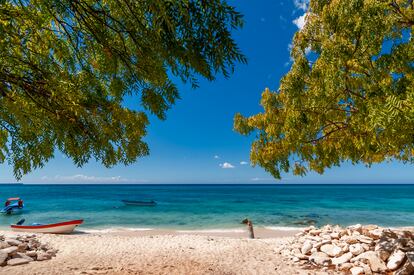
<path id="1" fill-rule="evenodd" d="M 165 119 L 179 98 L 172 78 L 228 76 L 246 61 L 242 24 L 224 0 L 0 0 L 0 163 L 21 178 L 55 148 L 79 166 L 147 155 L 148 113 Z"/>

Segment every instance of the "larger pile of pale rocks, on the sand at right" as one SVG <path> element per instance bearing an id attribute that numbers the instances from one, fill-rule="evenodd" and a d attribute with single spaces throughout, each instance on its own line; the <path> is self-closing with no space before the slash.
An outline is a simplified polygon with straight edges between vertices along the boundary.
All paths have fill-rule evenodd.
<path id="1" fill-rule="evenodd" d="M 359 274 L 414 274 L 414 232 L 353 225 L 308 227 L 278 252 L 304 268 Z"/>

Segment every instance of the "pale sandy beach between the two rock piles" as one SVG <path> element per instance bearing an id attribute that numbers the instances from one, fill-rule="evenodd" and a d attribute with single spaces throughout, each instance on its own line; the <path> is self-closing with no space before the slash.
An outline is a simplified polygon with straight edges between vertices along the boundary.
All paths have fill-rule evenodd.
<path id="1" fill-rule="evenodd" d="M 295 230 L 91 231 L 38 235 L 59 249 L 48 261 L 0 268 L 0 274 L 316 274 L 298 270 L 275 251 Z M 13 235 L 11 232 L 0 234 Z"/>

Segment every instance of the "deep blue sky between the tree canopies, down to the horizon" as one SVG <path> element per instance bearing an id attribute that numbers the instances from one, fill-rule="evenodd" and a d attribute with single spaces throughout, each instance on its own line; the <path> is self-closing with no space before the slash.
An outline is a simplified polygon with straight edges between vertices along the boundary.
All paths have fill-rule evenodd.
<path id="1" fill-rule="evenodd" d="M 264 88 L 276 90 L 289 70 L 289 44 L 303 24 L 306 0 L 231 1 L 245 16 L 245 26 L 235 33 L 249 62 L 239 65 L 230 79 L 200 81 L 193 90 L 179 85 L 181 100 L 166 121 L 151 118 L 148 128 L 150 156 L 130 166 L 106 169 L 91 161 L 82 168 L 56 152 L 42 169 L 23 177 L 24 183 L 414 183 L 412 167 L 383 163 L 366 168 L 349 163 L 324 175 L 283 175 L 276 181 L 260 167 L 249 164 L 254 136 L 235 133 L 237 112 L 261 112 Z M 138 107 L 138 100 L 127 105 Z M 12 167 L 0 165 L 0 182 L 15 182 Z"/>

